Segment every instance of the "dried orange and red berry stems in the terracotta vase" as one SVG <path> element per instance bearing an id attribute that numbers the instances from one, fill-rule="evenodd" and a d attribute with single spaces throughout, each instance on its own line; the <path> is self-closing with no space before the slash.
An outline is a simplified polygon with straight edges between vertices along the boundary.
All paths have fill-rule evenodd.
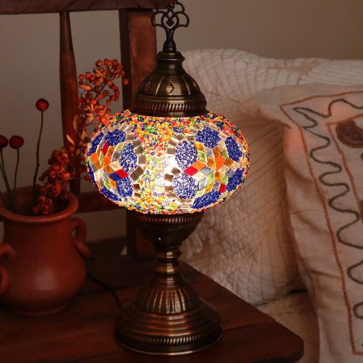
<path id="1" fill-rule="evenodd" d="M 31 214 L 49 215 L 62 210 L 67 202 L 65 191 L 69 181 L 73 178 L 89 179 L 88 175 L 83 175 L 86 166 L 81 163 L 79 168 L 74 165 L 74 159 L 84 154 L 85 147 L 89 141 L 87 127 L 93 124 L 95 127 L 100 122 L 104 122 L 111 112 L 109 105 L 119 99 L 120 91 L 114 81 L 122 79 L 123 84 L 128 83 L 124 77 L 123 66 L 116 59 L 98 60 L 95 63 L 93 72 L 86 72 L 78 76 L 79 97 L 76 100 L 78 105 L 77 113 L 73 117 L 73 129 L 76 134 L 76 141 L 67 135 L 71 146 L 62 146 L 58 150 L 53 150 L 48 159 L 49 167 L 41 174 L 39 181 L 42 185 L 36 184 L 39 169 L 39 147 L 43 130 L 43 113 L 49 107 L 45 99 L 36 101 L 36 109 L 41 112 L 41 122 L 39 136 L 36 143 L 36 170 L 33 177 L 34 204 Z M 14 190 L 16 188 L 17 170 L 19 165 L 20 147 L 24 144 L 21 136 L 12 136 L 8 141 L 5 136 L 0 135 L 0 172 L 6 187 L 6 194 L 0 191 L 0 198 L 5 207 L 16 213 Z M 17 150 L 17 163 L 15 166 L 13 188 L 10 187 L 5 171 L 5 164 L 2 150 L 7 145 Z M 80 158 L 83 160 L 83 158 Z"/>

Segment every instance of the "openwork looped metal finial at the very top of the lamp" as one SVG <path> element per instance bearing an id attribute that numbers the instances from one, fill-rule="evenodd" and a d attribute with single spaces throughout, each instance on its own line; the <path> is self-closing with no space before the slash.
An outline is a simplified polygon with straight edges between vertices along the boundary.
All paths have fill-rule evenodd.
<path id="1" fill-rule="evenodd" d="M 176 5 L 179 5 L 181 10 L 176 10 Z M 156 22 L 156 16 L 158 14 L 162 14 L 159 23 Z M 181 24 L 181 17 L 185 18 L 184 24 Z M 170 3 L 166 10 L 161 10 L 157 7 L 155 14 L 151 17 L 151 24 L 154 27 L 161 27 L 165 30 L 166 40 L 164 42 L 163 52 L 175 53 L 177 46 L 174 41 L 174 32 L 178 28 L 186 28 L 189 25 L 189 16 L 185 12 L 184 5 L 180 1 L 175 0 L 175 4 Z"/>

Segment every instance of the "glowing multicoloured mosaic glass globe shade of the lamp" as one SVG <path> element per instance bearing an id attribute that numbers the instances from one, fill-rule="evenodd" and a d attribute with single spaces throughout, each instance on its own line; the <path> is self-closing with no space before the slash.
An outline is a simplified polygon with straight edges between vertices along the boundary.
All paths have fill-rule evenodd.
<path id="1" fill-rule="evenodd" d="M 91 181 L 107 198 L 142 213 L 193 213 L 230 197 L 250 154 L 241 133 L 215 112 L 185 118 L 111 116 L 86 152 Z"/>

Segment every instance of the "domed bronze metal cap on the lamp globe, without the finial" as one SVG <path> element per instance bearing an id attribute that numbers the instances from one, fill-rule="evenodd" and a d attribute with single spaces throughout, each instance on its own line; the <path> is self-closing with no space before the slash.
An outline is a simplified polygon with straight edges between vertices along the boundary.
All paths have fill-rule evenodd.
<path id="1" fill-rule="evenodd" d="M 207 101 L 197 82 L 182 67 L 180 52 L 159 52 L 157 67 L 132 100 L 131 111 L 147 116 L 187 117 L 207 113 Z"/>

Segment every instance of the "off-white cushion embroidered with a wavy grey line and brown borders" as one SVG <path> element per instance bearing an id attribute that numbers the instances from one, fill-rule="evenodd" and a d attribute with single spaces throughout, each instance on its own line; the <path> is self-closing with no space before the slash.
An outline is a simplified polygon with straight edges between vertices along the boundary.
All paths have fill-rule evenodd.
<path id="1" fill-rule="evenodd" d="M 363 86 L 277 87 L 246 116 L 284 125 L 284 171 L 320 363 L 363 362 Z"/>

